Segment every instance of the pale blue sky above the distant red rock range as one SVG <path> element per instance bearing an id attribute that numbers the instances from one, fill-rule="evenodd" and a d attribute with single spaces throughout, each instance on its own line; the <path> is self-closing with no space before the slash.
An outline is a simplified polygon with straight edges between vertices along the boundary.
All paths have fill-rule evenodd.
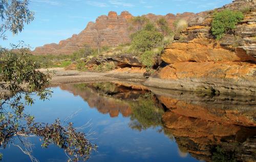
<path id="1" fill-rule="evenodd" d="M 78 34 L 89 21 L 95 21 L 109 11 L 129 11 L 138 16 L 147 13 L 166 15 L 167 13 L 198 13 L 222 7 L 232 0 L 31 0 L 30 9 L 35 12 L 35 19 L 26 25 L 24 31 L 13 36 L 7 33 L 8 40 L 1 41 L 2 47 L 10 47 L 24 41 L 32 49 L 47 43 L 58 43 L 73 34 Z"/>

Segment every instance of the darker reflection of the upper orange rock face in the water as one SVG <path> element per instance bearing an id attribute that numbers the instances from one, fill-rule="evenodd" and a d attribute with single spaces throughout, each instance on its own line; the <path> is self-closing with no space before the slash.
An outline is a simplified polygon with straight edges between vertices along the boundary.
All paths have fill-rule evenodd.
<path id="1" fill-rule="evenodd" d="M 190 118 L 172 112 L 165 113 L 162 119 L 165 127 L 173 129 L 175 136 L 189 137 L 197 143 L 220 140 L 221 137 L 232 136 L 240 130 L 236 125 Z"/>

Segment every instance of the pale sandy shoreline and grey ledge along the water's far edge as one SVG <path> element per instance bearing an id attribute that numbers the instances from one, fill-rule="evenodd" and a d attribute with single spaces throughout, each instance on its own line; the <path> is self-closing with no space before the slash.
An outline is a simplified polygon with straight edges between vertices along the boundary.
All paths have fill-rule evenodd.
<path id="1" fill-rule="evenodd" d="M 47 71 L 47 69 L 39 69 L 41 72 Z M 212 94 L 214 91 L 212 91 L 211 86 L 207 89 L 193 89 L 193 86 L 196 86 L 195 84 L 201 84 L 201 87 L 206 86 L 206 82 L 194 82 L 194 84 L 190 85 L 188 80 L 186 80 L 186 83 L 190 85 L 190 89 L 187 89 L 185 87 L 177 86 L 179 84 L 182 84 L 182 80 L 166 80 L 166 79 L 160 79 L 160 78 L 154 78 L 150 77 L 146 79 L 143 76 L 143 73 L 138 71 L 122 71 L 120 70 L 113 70 L 109 72 L 82 72 L 77 70 L 65 70 L 64 68 L 50 68 L 49 71 L 55 70 L 55 75 L 52 77 L 49 87 L 52 86 L 58 86 L 62 84 L 75 84 L 75 83 L 92 83 L 92 82 L 132 82 L 132 83 L 138 83 L 141 86 L 156 88 L 156 89 L 162 89 L 162 90 L 175 90 L 175 91 L 186 91 L 191 93 L 209 93 Z M 184 81 L 184 80 L 183 80 Z M 175 83 L 175 84 L 174 84 Z M 191 82 L 192 83 L 192 82 Z M 191 87 L 192 86 L 192 87 Z M 234 85 L 230 85 L 234 86 Z M 223 87 L 223 86 L 222 86 Z M 220 89 L 222 87 L 215 87 L 216 89 Z M 239 86 L 237 86 L 239 87 Z M 241 87 L 243 88 L 243 87 Z M 252 98 L 255 97 L 255 93 L 245 93 L 246 91 L 251 91 L 251 87 L 244 87 L 245 89 L 228 89 L 229 91 L 223 90 L 221 93 L 216 93 L 215 95 L 230 95 L 230 96 L 251 96 Z M 253 88 L 252 88 L 253 89 Z M 242 95 L 243 92 L 246 95 Z"/>

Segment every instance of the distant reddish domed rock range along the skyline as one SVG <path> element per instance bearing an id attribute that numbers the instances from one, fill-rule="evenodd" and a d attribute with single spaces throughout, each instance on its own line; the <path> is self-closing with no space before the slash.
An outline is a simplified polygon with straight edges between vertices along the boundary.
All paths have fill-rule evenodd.
<path id="1" fill-rule="evenodd" d="M 153 22 L 158 20 L 160 17 L 164 17 L 170 28 L 174 28 L 173 22 L 176 19 L 189 20 L 195 17 L 194 13 L 183 13 L 183 14 L 167 14 L 154 15 L 147 14 L 144 15 Z M 33 51 L 34 55 L 38 54 L 72 54 L 74 51 L 81 49 L 85 44 L 89 44 L 92 47 L 97 47 L 95 36 L 100 34 L 103 37 L 101 46 L 116 46 L 118 44 L 130 42 L 130 35 L 135 32 L 132 29 L 131 18 L 133 16 L 127 12 L 123 11 L 120 15 L 116 12 L 109 12 L 108 16 L 99 16 L 95 22 L 89 22 L 86 29 L 80 32 L 78 35 L 74 34 L 71 38 L 60 41 L 58 44 L 46 44 L 42 47 L 36 47 Z"/>

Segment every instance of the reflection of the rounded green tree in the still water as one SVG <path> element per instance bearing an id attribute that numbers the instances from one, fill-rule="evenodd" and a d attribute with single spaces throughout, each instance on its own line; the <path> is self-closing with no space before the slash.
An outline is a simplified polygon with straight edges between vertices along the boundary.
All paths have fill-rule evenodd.
<path id="1" fill-rule="evenodd" d="M 132 129 L 147 129 L 162 125 L 161 118 L 164 113 L 155 105 L 154 97 L 148 93 L 140 96 L 138 102 L 131 103 L 133 114 L 131 116 L 130 127 Z"/>

